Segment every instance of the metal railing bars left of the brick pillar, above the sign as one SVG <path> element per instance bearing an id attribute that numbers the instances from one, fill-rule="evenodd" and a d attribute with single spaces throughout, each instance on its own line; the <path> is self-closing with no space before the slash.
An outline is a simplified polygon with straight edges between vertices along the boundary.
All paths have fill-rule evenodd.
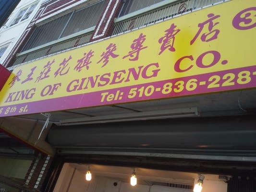
<path id="1" fill-rule="evenodd" d="M 67 50 L 67 49 L 85 45 L 86 43 L 89 42 L 92 34 L 93 34 L 93 32 L 86 33 L 84 35 L 76 36 L 74 38 L 70 38 L 68 40 L 61 41 L 54 45 L 51 45 L 51 46 L 48 46 L 45 48 L 41 48 L 41 49 L 37 49 L 36 51 L 18 56 L 12 66 L 15 66 L 15 65 L 27 62 L 27 61 L 36 60 L 38 58 L 49 56 L 49 55 L 52 55 L 55 53 L 59 53 L 64 50 Z"/>

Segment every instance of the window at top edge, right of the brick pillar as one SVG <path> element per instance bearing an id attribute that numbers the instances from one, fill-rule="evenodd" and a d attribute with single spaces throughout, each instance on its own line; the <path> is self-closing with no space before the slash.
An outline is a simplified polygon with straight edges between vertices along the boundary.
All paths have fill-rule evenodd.
<path id="1" fill-rule="evenodd" d="M 119 16 L 121 17 L 123 15 L 127 15 L 131 12 L 138 11 L 161 1 L 163 0 L 126 0 L 122 6 L 122 10 Z"/>

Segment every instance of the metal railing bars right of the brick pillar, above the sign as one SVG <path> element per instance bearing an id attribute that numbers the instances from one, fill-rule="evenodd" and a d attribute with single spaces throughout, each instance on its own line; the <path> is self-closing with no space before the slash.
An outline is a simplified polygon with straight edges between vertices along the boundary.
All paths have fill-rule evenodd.
<path id="1" fill-rule="evenodd" d="M 112 35 L 117 35 L 164 19 L 172 18 L 178 14 L 193 12 L 194 10 L 223 1 L 225 0 L 180 0 L 153 11 L 117 22 Z"/>

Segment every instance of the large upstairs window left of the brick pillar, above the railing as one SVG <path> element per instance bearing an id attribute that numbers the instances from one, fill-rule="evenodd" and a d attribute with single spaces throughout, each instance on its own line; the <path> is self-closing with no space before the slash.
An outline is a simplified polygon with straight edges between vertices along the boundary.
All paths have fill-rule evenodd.
<path id="1" fill-rule="evenodd" d="M 67 13 L 35 28 L 22 51 L 80 32 L 97 24 L 107 0 Z"/>

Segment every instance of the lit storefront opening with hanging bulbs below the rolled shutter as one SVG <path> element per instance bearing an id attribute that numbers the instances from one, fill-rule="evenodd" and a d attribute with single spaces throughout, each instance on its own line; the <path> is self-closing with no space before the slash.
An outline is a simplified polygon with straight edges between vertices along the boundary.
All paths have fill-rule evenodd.
<path id="1" fill-rule="evenodd" d="M 88 170 L 90 181 L 85 179 Z M 134 170 L 137 184 L 132 186 Z M 204 176 L 202 192 L 227 192 L 222 177 Z M 197 180 L 198 174 L 189 172 L 65 163 L 54 192 L 193 192 Z"/>

